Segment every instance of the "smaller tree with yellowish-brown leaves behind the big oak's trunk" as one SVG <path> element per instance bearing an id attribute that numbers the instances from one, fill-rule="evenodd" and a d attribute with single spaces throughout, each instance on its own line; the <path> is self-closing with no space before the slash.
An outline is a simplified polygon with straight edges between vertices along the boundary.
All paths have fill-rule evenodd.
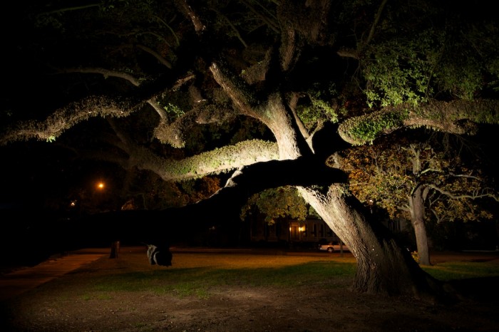
<path id="1" fill-rule="evenodd" d="M 428 220 L 492 219 L 487 200 L 498 202 L 497 189 L 480 172 L 475 158 L 471 159 L 474 164 L 465 162 L 462 148 L 445 141 L 440 135 L 422 141 L 379 140 L 350 150 L 343 160 L 351 167 L 351 190 L 361 202 L 386 209 L 391 218 L 411 221 L 418 261 L 426 265 L 431 263 Z M 480 199 L 485 202 L 480 204 Z"/>

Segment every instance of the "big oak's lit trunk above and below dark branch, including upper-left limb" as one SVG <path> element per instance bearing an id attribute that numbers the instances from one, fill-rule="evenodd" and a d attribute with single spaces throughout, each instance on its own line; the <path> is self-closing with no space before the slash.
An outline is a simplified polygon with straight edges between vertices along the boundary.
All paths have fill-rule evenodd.
<path id="1" fill-rule="evenodd" d="M 336 150 L 341 150 L 341 142 L 334 138 L 326 138 L 326 142 L 307 145 L 304 136 L 299 132 L 299 121 L 294 117 L 292 110 L 286 107 L 285 99 L 278 93 L 269 95 L 266 103 L 260 101 L 256 107 L 249 103 L 247 93 L 243 93 L 232 82 L 220 66 L 214 64 L 210 67 L 215 81 L 230 96 L 241 113 L 257 118 L 265 123 L 277 140 L 279 146 L 279 159 L 297 160 L 309 158 L 309 168 L 305 171 L 314 175 L 319 167 L 317 160 L 324 160 L 329 155 L 331 145 L 336 145 Z M 319 135 L 320 137 L 320 135 Z M 314 139 L 312 139 L 314 141 Z M 316 146 L 327 146 L 328 153 L 318 151 Z M 313 162 L 315 161 L 315 162 Z M 317 169 L 316 169 L 317 168 Z M 243 170 L 244 172 L 244 170 Z M 296 173 L 295 173 L 296 174 Z M 321 180 L 321 184 L 334 183 L 337 180 Z M 291 185 L 289 179 L 288 185 Z M 316 182 L 318 184 L 319 182 Z M 327 192 L 319 185 L 314 187 L 300 187 L 304 199 L 316 209 L 329 227 L 344 243 L 349 245 L 357 259 L 357 272 L 354 280 L 354 290 L 372 294 L 408 294 L 421 297 L 434 296 L 440 290 L 435 279 L 424 272 L 414 261 L 408 251 L 404 251 L 396 244 L 391 233 L 382 226 L 381 222 L 368 219 L 369 214 L 364 213 L 364 207 L 358 199 L 350 194 L 346 187 L 329 185 Z M 372 217 L 371 217 L 372 218 Z"/>

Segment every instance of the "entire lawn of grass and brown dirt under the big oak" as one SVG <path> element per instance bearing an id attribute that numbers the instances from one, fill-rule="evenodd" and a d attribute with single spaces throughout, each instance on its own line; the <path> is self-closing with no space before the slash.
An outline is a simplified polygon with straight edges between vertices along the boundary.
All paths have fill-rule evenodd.
<path id="1" fill-rule="evenodd" d="M 1 304 L 0 331 L 497 331 L 499 264 L 425 266 L 469 299 L 428 304 L 350 291 L 351 256 L 173 254 L 122 248 Z M 475 296 L 478 291 L 485 298 Z"/>

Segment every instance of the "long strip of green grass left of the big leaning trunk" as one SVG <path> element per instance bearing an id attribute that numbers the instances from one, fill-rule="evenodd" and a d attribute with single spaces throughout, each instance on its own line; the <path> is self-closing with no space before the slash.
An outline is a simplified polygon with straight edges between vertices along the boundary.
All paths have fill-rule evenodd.
<path id="1" fill-rule="evenodd" d="M 277 286 L 296 287 L 326 284 L 331 278 L 351 278 L 354 263 L 310 262 L 278 268 L 216 269 L 190 268 L 147 272 L 131 272 L 100 276 L 91 282 L 91 290 L 152 291 L 154 294 L 197 296 L 207 298 L 209 289 L 220 286 Z"/>

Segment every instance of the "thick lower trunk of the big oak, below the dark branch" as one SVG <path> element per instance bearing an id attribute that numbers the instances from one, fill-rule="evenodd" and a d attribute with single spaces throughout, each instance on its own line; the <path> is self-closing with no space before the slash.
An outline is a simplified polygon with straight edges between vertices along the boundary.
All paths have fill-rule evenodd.
<path id="1" fill-rule="evenodd" d="M 407 250 L 401 249 L 381 222 L 344 185 L 327 192 L 302 187 L 300 192 L 357 259 L 353 289 L 371 294 L 410 295 L 435 299 L 441 284 L 426 274 Z M 371 217 L 372 218 L 372 217 Z"/>

